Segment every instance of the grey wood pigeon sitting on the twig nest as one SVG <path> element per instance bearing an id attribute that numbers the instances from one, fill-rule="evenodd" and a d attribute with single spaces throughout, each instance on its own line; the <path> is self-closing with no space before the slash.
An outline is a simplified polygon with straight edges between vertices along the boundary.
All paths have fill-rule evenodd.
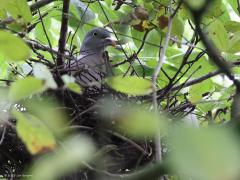
<path id="1" fill-rule="evenodd" d="M 115 45 L 116 42 L 111 39 L 110 32 L 106 29 L 98 27 L 90 30 L 83 40 L 80 56 L 66 65 L 77 83 L 83 87 L 101 87 L 101 80 L 108 76 L 111 70 L 105 49 Z"/>

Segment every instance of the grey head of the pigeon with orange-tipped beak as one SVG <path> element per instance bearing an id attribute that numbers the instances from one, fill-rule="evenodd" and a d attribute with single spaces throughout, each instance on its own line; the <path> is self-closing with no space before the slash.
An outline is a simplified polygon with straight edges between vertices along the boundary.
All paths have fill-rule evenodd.
<path id="1" fill-rule="evenodd" d="M 104 28 L 94 28 L 90 30 L 82 43 L 80 52 L 101 52 L 107 46 L 115 46 L 116 42 L 111 39 L 110 32 Z"/>

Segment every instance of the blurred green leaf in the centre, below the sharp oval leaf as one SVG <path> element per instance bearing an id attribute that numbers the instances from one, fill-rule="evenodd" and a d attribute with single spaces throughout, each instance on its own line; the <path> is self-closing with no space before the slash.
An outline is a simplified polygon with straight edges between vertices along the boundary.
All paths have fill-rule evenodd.
<path id="1" fill-rule="evenodd" d="M 157 131 L 165 132 L 168 126 L 164 114 L 156 115 L 149 107 L 104 99 L 101 114 L 116 123 L 120 131 L 136 139 L 154 137 Z"/>

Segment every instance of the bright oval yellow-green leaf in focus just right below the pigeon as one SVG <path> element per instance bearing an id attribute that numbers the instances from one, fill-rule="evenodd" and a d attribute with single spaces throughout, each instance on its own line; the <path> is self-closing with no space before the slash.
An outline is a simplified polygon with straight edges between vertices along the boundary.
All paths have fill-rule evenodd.
<path id="1" fill-rule="evenodd" d="M 116 91 L 141 96 L 151 93 L 151 81 L 136 76 L 116 76 L 107 79 L 107 84 Z"/>

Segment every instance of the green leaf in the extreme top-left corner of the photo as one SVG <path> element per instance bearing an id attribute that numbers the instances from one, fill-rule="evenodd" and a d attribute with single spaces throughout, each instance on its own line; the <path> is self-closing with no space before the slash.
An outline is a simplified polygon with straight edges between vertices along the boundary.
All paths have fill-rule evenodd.
<path id="1" fill-rule="evenodd" d="M 26 0 L 0 0 L 0 4 L 14 19 L 22 18 L 25 24 L 31 22 L 32 14 Z"/>

